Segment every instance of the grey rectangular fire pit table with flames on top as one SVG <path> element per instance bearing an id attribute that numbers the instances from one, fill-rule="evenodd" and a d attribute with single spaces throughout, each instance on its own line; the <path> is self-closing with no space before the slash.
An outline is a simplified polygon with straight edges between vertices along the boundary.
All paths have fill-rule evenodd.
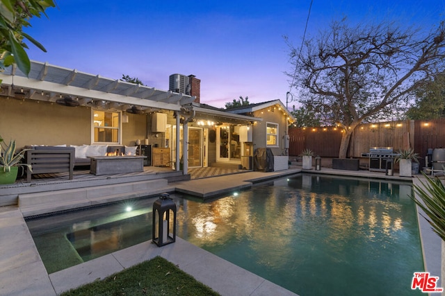
<path id="1" fill-rule="evenodd" d="M 94 175 L 124 174 L 144 171 L 145 156 L 89 156 L 90 173 Z"/>

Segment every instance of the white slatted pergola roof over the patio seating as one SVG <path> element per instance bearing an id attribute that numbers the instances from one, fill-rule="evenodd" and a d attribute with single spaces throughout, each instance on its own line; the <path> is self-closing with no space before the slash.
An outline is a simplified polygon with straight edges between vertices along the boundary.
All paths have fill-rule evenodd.
<path id="1" fill-rule="evenodd" d="M 0 79 L 3 80 L 0 92 L 2 96 L 18 94 L 25 99 L 50 102 L 63 96 L 71 96 L 79 105 L 91 107 L 97 107 L 96 103 L 106 103 L 120 110 L 136 105 L 142 110 L 179 111 L 181 105 L 195 100 L 194 96 L 104 78 L 47 62 L 31 61 L 28 77 L 15 66 L 8 67 L 0 73 Z"/>

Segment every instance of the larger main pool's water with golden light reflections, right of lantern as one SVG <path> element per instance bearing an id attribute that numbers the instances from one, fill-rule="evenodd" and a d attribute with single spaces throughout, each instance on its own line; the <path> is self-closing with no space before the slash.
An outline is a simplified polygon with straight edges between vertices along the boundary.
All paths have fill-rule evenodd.
<path id="1" fill-rule="evenodd" d="M 300 295 L 412 295 L 423 259 L 410 193 L 302 175 L 209 203 L 181 200 L 178 236 Z"/>

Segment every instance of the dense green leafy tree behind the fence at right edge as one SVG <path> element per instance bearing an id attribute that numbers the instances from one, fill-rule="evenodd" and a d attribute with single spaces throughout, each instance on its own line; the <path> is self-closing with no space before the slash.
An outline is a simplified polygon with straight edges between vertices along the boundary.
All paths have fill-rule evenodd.
<path id="1" fill-rule="evenodd" d="M 445 73 L 427 82 L 416 94 L 416 105 L 406 112 L 408 119 L 439 119 L 445 117 Z"/>

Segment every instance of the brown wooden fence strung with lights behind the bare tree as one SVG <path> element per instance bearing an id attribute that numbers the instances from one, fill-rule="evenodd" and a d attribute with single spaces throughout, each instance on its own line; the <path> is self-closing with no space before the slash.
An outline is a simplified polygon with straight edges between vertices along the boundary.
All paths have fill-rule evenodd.
<path id="1" fill-rule="evenodd" d="M 341 134 L 335 127 L 289 128 L 289 155 L 300 155 L 309 148 L 321 157 L 338 157 Z M 424 166 L 428 148 L 445 147 L 445 119 L 359 125 L 351 136 L 348 157 L 361 157 L 372 147 L 392 147 L 394 151 L 414 148 Z"/>

